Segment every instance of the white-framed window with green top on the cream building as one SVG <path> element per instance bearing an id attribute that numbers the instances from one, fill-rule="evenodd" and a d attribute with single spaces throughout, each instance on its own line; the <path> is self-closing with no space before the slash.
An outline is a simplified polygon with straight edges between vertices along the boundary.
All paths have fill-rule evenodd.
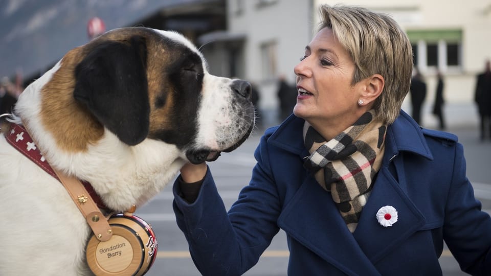
<path id="1" fill-rule="evenodd" d="M 462 65 L 461 30 L 408 30 L 407 34 L 415 67 L 444 70 Z"/>

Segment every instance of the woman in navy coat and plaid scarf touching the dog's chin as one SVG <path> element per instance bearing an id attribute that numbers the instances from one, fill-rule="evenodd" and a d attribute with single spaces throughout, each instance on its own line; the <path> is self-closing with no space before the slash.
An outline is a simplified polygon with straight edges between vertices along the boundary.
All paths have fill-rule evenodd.
<path id="1" fill-rule="evenodd" d="M 457 137 L 421 130 L 401 104 L 411 44 L 390 17 L 322 6 L 295 66 L 295 116 L 265 131 L 249 186 L 227 213 L 205 164 L 174 185 L 177 224 L 204 275 L 240 275 L 282 228 L 289 275 L 491 273 L 491 219 Z M 327 141 L 327 142 L 326 142 Z"/>

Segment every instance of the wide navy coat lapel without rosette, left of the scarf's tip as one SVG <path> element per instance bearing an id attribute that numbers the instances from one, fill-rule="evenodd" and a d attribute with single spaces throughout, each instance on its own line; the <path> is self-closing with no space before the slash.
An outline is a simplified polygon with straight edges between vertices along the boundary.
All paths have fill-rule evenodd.
<path id="1" fill-rule="evenodd" d="M 285 206 L 278 225 L 348 275 L 380 275 L 348 231 L 331 195 L 313 177 L 307 177 Z"/>

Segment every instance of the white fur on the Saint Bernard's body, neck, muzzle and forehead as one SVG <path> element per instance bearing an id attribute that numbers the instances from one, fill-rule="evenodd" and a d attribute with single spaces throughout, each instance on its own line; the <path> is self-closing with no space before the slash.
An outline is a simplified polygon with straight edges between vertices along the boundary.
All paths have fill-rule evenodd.
<path id="1" fill-rule="evenodd" d="M 203 58 L 183 36 L 161 34 L 180 41 Z M 232 126 L 243 119 L 229 109 L 231 80 L 210 75 L 204 59 L 203 65 L 203 102 L 195 144 L 220 149 L 240 138 Z M 91 182 L 109 208 L 126 210 L 131 204 L 144 204 L 173 180 L 186 162 L 185 153 L 174 145 L 150 139 L 128 146 L 107 129 L 86 152 L 61 150 L 39 116 L 39 92 L 60 66 L 56 64 L 21 94 L 16 121 L 28 118 L 33 139 L 50 165 Z M 0 275 L 90 275 L 85 246 L 91 229 L 61 183 L 12 148 L 3 133 L 0 164 Z"/>

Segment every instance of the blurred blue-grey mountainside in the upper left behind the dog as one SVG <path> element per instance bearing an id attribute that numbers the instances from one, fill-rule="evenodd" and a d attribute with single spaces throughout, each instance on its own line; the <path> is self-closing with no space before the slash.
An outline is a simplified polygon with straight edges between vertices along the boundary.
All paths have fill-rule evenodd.
<path id="1" fill-rule="evenodd" d="M 0 77 L 48 70 L 69 50 L 87 43 L 87 22 L 101 18 L 106 30 L 141 25 L 162 10 L 204 0 L 5 0 L 0 6 Z M 225 1 L 218 1 L 225 3 Z M 225 4 L 224 4 L 225 5 Z M 182 11 L 181 11 L 182 12 Z"/>

